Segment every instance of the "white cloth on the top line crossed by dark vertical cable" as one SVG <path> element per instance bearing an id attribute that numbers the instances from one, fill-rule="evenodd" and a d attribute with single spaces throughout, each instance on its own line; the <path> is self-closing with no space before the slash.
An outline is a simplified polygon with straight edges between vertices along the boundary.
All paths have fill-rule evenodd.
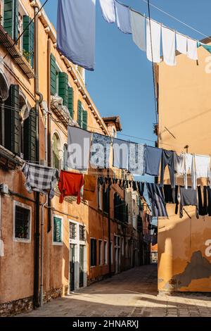
<path id="1" fill-rule="evenodd" d="M 149 61 L 160 63 L 161 25 L 146 18 L 146 56 Z"/>

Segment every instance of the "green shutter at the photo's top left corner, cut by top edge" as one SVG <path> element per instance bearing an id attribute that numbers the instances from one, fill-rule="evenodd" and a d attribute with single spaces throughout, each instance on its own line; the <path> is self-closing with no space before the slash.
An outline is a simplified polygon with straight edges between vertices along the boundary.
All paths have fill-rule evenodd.
<path id="1" fill-rule="evenodd" d="M 18 39 L 18 0 L 4 0 L 4 29 Z"/>

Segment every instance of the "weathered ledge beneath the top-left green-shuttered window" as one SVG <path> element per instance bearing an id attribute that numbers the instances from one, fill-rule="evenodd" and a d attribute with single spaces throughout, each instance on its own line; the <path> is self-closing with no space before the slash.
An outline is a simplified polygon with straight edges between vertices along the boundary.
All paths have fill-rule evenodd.
<path id="1" fill-rule="evenodd" d="M 8 53 L 11 55 L 15 63 L 19 65 L 19 67 L 23 70 L 23 72 L 27 75 L 29 79 L 34 78 L 34 70 L 31 67 L 30 63 L 28 63 L 27 59 L 21 51 L 18 49 L 18 46 L 13 46 L 14 40 L 11 38 L 10 35 L 4 30 L 4 27 L 0 24 L 0 43 L 3 45 L 7 50 Z"/>

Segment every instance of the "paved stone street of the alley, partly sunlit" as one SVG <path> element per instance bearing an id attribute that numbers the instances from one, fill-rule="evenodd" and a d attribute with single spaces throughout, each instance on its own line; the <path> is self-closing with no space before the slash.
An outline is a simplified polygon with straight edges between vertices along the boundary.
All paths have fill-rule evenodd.
<path id="1" fill-rule="evenodd" d="M 211 297 L 157 293 L 157 267 L 141 266 L 19 316 L 211 317 Z"/>

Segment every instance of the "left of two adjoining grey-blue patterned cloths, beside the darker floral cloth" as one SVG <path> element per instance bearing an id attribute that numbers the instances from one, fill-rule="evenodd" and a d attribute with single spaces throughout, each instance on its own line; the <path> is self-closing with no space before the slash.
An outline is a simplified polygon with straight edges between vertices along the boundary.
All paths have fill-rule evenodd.
<path id="1" fill-rule="evenodd" d="M 128 169 L 129 142 L 113 138 L 113 167 Z"/>

